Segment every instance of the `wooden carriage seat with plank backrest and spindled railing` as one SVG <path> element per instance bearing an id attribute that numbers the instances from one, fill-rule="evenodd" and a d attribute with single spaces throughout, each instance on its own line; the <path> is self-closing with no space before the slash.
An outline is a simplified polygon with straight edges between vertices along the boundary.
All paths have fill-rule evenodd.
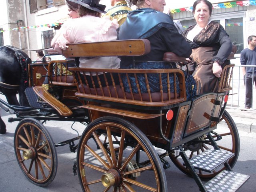
<path id="1" fill-rule="evenodd" d="M 114 49 L 113 49 L 114 47 Z M 86 57 L 86 56 L 142 56 L 150 52 L 150 42 L 146 39 L 134 39 L 134 40 L 116 40 L 108 42 L 90 42 L 90 43 L 79 43 L 79 44 L 68 44 L 68 48 L 63 50 L 62 53 L 66 57 Z M 183 60 L 182 60 L 183 61 Z M 178 102 L 186 101 L 186 89 L 184 82 L 184 74 L 179 69 L 158 69 L 158 70 L 137 70 L 137 69 L 84 69 L 84 68 L 69 68 L 76 77 L 79 79 L 75 82 L 77 84 L 78 92 L 76 96 L 85 100 L 105 100 L 112 102 L 122 102 L 127 104 L 136 104 L 143 106 L 166 106 Z M 86 79 L 81 79 L 81 73 L 84 74 L 102 74 L 102 73 L 116 73 L 119 74 L 120 85 L 110 84 L 106 87 L 100 86 L 100 88 L 90 88 L 86 84 Z M 136 76 L 142 74 L 147 76 L 148 73 L 154 74 L 173 74 L 175 79 L 174 86 L 175 92 L 170 91 L 164 93 L 162 90 L 162 82 L 160 83 L 160 92 L 150 92 L 148 82 L 145 82 L 148 88 L 147 93 L 133 93 L 130 88 L 130 92 L 124 91 L 122 84 L 122 76 L 128 77 L 130 74 Z M 177 82 L 176 82 L 177 77 Z M 136 78 L 136 77 L 135 77 Z M 92 78 L 91 78 L 92 80 Z M 107 82 L 105 80 L 104 82 Z M 97 82 L 102 84 L 100 80 Z M 166 82 L 165 82 L 166 83 Z M 129 84 L 129 82 L 128 82 Z M 140 89 L 138 79 L 136 78 L 136 84 Z M 180 93 L 176 90 L 176 85 L 180 86 Z"/>

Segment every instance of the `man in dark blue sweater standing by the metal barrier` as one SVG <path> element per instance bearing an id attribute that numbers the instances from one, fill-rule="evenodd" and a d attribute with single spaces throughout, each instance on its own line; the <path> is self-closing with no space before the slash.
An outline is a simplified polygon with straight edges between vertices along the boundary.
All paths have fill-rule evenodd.
<path id="1" fill-rule="evenodd" d="M 241 65 L 256 65 L 256 36 L 249 36 L 247 41 L 249 46 L 241 52 Z M 256 83 L 256 67 L 242 67 L 242 72 L 244 74 L 246 96 L 245 108 L 250 109 L 252 107 L 253 82 Z"/>

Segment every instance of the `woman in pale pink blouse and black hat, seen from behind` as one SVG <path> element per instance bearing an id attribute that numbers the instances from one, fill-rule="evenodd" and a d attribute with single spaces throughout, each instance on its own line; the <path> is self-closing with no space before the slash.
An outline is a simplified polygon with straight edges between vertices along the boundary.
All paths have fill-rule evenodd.
<path id="1" fill-rule="evenodd" d="M 60 34 L 52 46 L 54 50 L 62 54 L 66 49 L 66 44 L 81 42 L 100 42 L 116 40 L 116 29 L 119 27 L 116 20 L 110 20 L 109 17 L 101 18 L 101 13 L 105 13 L 106 6 L 99 4 L 100 0 L 66 0 L 73 7 L 78 6 L 78 18 L 64 23 L 60 29 Z M 117 69 L 120 66 L 120 59 L 117 57 L 80 57 L 80 68 L 112 68 Z M 82 75 L 82 74 L 81 74 Z M 88 84 L 93 87 L 92 80 L 88 75 Z M 111 77 L 107 73 L 109 84 L 112 84 Z M 96 74 L 93 74 L 95 86 L 99 87 Z M 104 82 L 104 75 L 99 74 L 99 78 Z M 118 76 L 114 76 L 118 84 Z M 102 84 L 102 86 L 106 86 Z"/>

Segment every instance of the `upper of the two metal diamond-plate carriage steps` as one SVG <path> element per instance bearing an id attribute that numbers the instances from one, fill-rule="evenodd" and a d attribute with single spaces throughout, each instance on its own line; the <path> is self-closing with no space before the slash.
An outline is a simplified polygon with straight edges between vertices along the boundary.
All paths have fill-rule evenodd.
<path id="1" fill-rule="evenodd" d="M 190 162 L 195 169 L 210 173 L 230 160 L 233 156 L 235 156 L 235 154 L 229 151 L 208 149 L 190 159 Z"/>

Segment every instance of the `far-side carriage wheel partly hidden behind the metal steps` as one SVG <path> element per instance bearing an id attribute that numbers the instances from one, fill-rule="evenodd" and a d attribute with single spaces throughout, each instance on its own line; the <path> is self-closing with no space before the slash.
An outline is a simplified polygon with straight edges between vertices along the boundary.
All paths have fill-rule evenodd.
<path id="1" fill-rule="evenodd" d="M 221 125 L 221 128 L 220 128 L 220 126 L 218 126 L 218 124 Z M 230 167 L 233 168 L 238 159 L 239 150 L 240 150 L 240 139 L 239 139 L 238 130 L 236 128 L 236 124 L 234 123 L 234 120 L 232 119 L 230 114 L 228 114 L 228 112 L 226 110 L 224 111 L 224 114 L 222 115 L 218 124 L 217 124 L 217 129 L 214 130 L 214 132 L 219 134 L 220 136 L 222 136 L 222 139 L 216 141 L 216 143 L 218 144 L 220 150 L 230 151 L 235 154 L 235 156 L 229 160 Z M 211 132 L 211 134 L 212 134 L 213 138 L 216 140 L 217 136 L 216 136 L 216 134 L 214 134 L 214 132 Z M 210 144 L 200 142 L 202 140 L 204 140 L 204 141 L 208 140 L 205 136 L 201 136 L 200 138 L 198 138 L 198 140 L 199 140 L 198 143 L 196 143 L 193 146 L 192 145 L 190 145 L 190 146 L 184 145 L 184 150 L 189 159 L 202 153 L 203 151 L 207 150 L 208 148 L 213 148 L 212 145 L 210 145 Z M 188 168 L 186 166 L 184 166 L 184 161 L 182 160 L 181 156 L 175 157 L 174 154 L 171 153 L 171 154 L 169 154 L 169 157 L 171 158 L 172 162 L 182 172 L 191 176 Z M 225 167 L 223 165 L 212 173 L 204 172 L 201 170 L 196 170 L 196 172 L 201 179 L 208 180 L 208 179 L 216 176 L 224 168 Z"/>

